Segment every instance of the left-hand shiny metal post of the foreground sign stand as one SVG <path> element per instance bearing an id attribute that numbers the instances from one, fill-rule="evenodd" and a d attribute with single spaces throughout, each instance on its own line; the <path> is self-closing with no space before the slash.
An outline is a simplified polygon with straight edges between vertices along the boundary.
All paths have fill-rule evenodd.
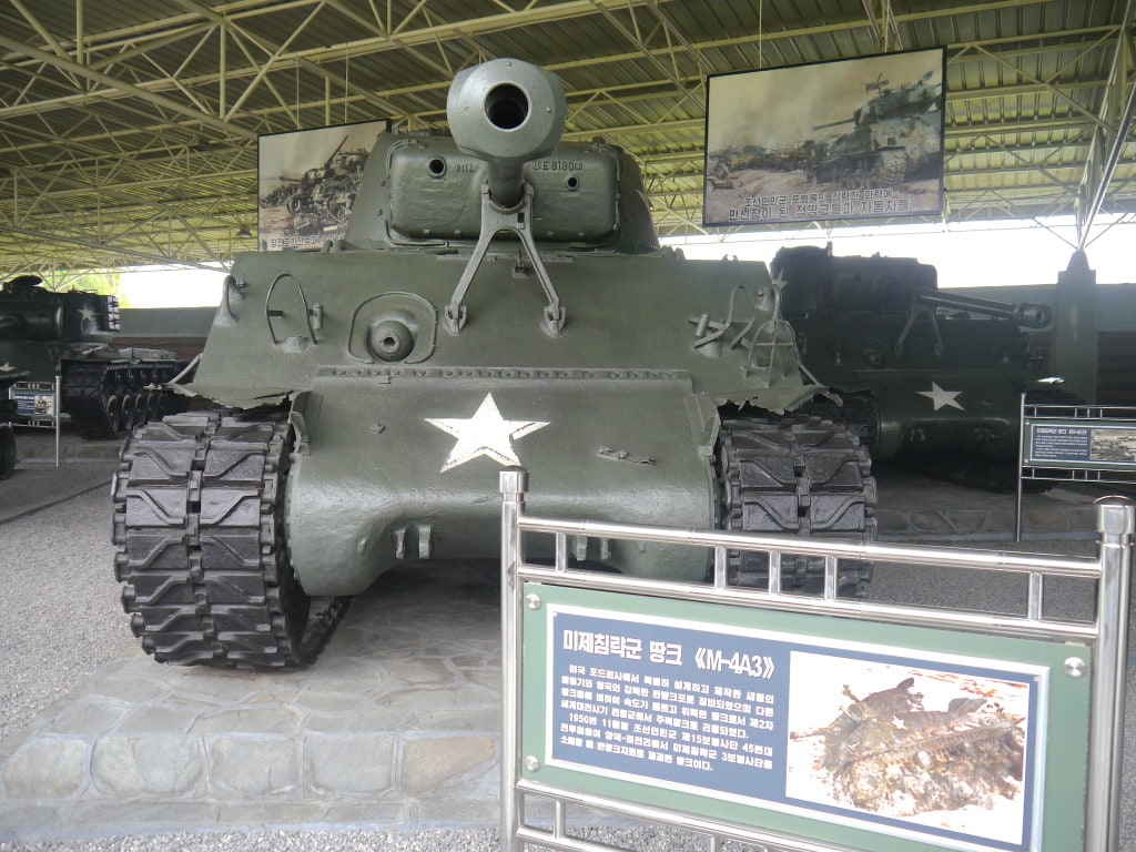
<path id="1" fill-rule="evenodd" d="M 521 613 L 520 528 L 528 473 L 521 468 L 501 471 L 501 852 L 519 852 L 520 827 L 520 654 L 518 623 Z"/>

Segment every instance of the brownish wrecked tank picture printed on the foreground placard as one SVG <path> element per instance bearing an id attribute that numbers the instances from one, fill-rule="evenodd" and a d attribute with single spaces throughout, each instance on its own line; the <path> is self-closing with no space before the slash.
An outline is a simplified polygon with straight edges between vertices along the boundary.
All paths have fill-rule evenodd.
<path id="1" fill-rule="evenodd" d="M 1028 843 L 1028 678 L 795 653 L 791 696 L 788 799 Z"/>

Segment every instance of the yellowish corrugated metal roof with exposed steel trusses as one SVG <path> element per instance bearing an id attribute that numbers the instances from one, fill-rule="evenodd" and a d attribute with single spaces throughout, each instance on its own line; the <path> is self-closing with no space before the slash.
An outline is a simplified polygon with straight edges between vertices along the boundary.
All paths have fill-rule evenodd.
<path id="1" fill-rule="evenodd" d="M 259 135 L 442 128 L 453 73 L 506 56 L 634 156 L 666 236 L 703 231 L 708 75 L 945 47 L 944 217 L 1087 240 L 1136 219 L 1134 2 L 0 0 L 0 277 L 227 261 Z"/>

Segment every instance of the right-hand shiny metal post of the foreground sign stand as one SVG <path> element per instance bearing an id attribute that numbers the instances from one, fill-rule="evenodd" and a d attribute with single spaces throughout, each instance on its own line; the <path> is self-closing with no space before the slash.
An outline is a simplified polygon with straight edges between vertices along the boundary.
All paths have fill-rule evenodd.
<path id="1" fill-rule="evenodd" d="M 1136 504 L 1130 500 L 1110 496 L 1096 502 L 1101 580 L 1096 592 L 1099 632 L 1088 722 L 1085 852 L 1117 852 L 1120 847 L 1120 765 L 1125 743 L 1125 655 L 1134 518 Z"/>

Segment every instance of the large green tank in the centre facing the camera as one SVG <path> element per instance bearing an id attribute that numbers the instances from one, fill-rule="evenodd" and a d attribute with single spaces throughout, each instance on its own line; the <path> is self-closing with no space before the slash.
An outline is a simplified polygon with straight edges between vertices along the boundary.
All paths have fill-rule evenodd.
<path id="1" fill-rule="evenodd" d="M 241 254 L 191 411 L 135 431 L 116 569 L 159 661 L 310 662 L 390 569 L 500 554 L 502 466 L 534 511 L 870 536 L 875 482 L 842 425 L 795 414 L 799 368 L 765 264 L 662 250 L 638 170 L 559 142 L 559 81 L 461 72 L 450 136 L 381 136 L 343 241 Z M 703 582 L 704 554 L 573 538 L 570 560 Z M 552 542 L 534 542 L 548 558 Z M 732 554 L 740 583 L 765 557 Z M 846 565 L 842 591 L 868 567 Z M 816 561 L 786 560 L 786 591 Z"/>

